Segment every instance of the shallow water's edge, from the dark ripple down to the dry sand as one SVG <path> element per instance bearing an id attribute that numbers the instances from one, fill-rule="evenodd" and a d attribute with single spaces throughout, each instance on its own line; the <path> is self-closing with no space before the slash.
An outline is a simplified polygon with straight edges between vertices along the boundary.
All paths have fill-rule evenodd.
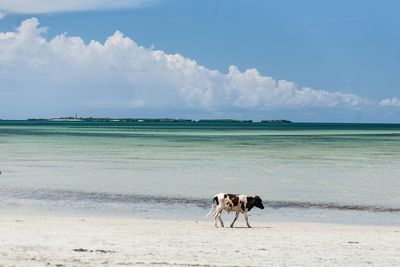
<path id="1" fill-rule="evenodd" d="M 202 221 L 211 207 L 211 201 L 205 198 L 44 189 L 0 189 L 0 204 L 0 213 L 8 215 L 183 221 Z M 250 212 L 251 221 L 400 226 L 400 212 L 395 208 L 268 200 L 264 201 L 264 205 L 264 210 Z M 224 220 L 230 221 L 233 217 L 233 213 L 228 215 L 224 212 Z"/>

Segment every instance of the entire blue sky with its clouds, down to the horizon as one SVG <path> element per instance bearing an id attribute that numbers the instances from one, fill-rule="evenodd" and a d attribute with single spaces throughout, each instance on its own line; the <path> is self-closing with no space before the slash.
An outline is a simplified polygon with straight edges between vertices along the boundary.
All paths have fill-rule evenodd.
<path id="1" fill-rule="evenodd" d="M 0 0 L 0 118 L 400 122 L 396 0 Z"/>

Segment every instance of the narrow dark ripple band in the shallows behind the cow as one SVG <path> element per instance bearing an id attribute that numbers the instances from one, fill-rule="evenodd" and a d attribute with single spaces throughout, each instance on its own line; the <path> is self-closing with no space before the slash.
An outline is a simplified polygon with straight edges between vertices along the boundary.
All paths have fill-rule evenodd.
<path id="1" fill-rule="evenodd" d="M 116 194 L 105 192 L 82 192 L 48 189 L 0 189 L 0 198 L 17 198 L 44 201 L 89 201 L 95 203 L 150 203 L 161 205 L 190 205 L 199 208 L 209 208 L 212 200 L 206 198 L 170 197 L 139 194 Z M 373 205 L 350 205 L 308 201 L 279 201 L 264 200 L 264 205 L 272 209 L 301 208 L 301 209 L 331 209 L 369 212 L 400 212 L 397 207 Z"/>

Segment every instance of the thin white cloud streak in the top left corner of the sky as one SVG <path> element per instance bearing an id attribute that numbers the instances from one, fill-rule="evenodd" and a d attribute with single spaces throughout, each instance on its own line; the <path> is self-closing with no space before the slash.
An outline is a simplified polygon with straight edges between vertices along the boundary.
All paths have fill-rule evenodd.
<path id="1" fill-rule="evenodd" d="M 154 0 L 0 0 L 0 19 L 7 13 L 41 14 L 53 12 L 89 11 L 135 8 Z"/>

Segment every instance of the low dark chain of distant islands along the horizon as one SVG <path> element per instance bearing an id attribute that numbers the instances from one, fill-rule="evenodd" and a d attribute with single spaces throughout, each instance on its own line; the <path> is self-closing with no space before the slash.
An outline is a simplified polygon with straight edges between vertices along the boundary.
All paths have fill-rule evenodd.
<path id="1" fill-rule="evenodd" d="M 80 117 L 59 117 L 49 119 L 28 119 L 28 121 L 60 121 L 60 122 L 200 122 L 200 123 L 217 123 L 217 122 L 246 122 L 252 123 L 253 120 L 236 120 L 236 119 L 175 119 L 175 118 L 80 118 Z M 261 123 L 291 123 L 289 120 L 262 120 Z"/>

